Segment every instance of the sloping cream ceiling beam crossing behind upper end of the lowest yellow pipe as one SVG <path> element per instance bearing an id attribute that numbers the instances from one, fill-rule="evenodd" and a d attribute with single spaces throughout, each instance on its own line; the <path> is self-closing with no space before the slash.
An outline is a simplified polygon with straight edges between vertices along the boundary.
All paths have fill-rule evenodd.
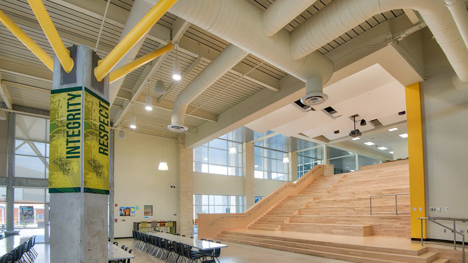
<path id="1" fill-rule="evenodd" d="M 178 21 L 177 21 L 178 20 Z M 190 23 L 177 18 L 176 21 L 174 22 L 173 25 L 173 34 L 177 38 L 173 38 L 171 40 L 171 43 L 175 44 L 179 41 L 179 39 L 183 36 L 185 31 L 189 28 Z M 146 86 L 146 83 L 148 80 L 151 79 L 151 77 L 156 73 L 156 71 L 159 69 L 161 64 L 164 62 L 166 57 L 169 56 L 169 52 L 159 56 L 156 58 L 156 61 L 153 61 L 152 65 L 146 65 L 145 69 L 141 73 L 141 75 L 138 77 L 137 82 L 135 83 L 135 86 L 133 86 L 132 90 L 135 94 L 132 95 L 132 98 L 123 105 L 123 109 L 119 110 L 117 113 L 117 116 L 114 118 L 113 125 L 114 127 L 117 127 L 120 121 L 123 119 L 125 114 L 128 112 L 130 109 L 130 106 L 133 102 L 135 102 L 140 95 L 140 93 L 143 91 L 143 89 Z"/>

